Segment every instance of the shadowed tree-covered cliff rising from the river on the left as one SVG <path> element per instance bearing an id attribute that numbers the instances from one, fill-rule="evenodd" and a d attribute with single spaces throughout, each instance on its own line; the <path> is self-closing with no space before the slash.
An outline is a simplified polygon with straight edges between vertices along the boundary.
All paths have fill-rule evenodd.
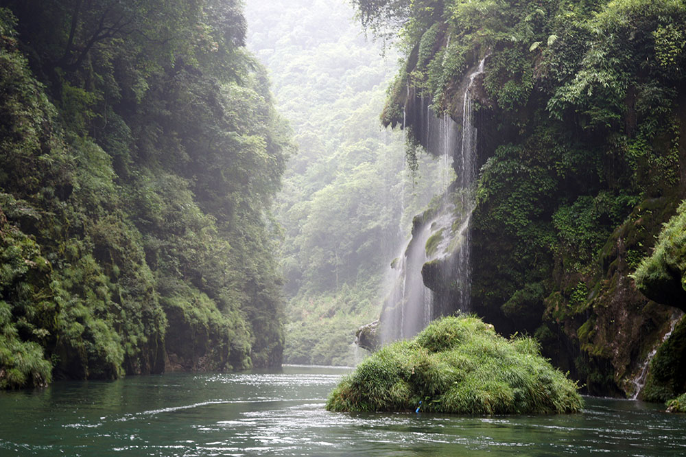
<path id="1" fill-rule="evenodd" d="M 280 364 L 292 146 L 241 2 L 0 5 L 0 388 Z"/>

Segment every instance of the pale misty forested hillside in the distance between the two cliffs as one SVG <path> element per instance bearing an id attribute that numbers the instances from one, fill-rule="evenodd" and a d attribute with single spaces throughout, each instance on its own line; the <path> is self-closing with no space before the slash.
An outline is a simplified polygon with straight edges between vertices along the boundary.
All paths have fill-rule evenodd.
<path id="1" fill-rule="evenodd" d="M 405 170 L 399 132 L 379 124 L 397 53 L 366 40 L 345 1 L 249 1 L 248 43 L 270 69 L 298 154 L 276 218 L 283 225 L 284 358 L 352 364 L 355 330 L 379 313 L 384 272 L 412 216 L 439 193 L 438 164 Z"/>

